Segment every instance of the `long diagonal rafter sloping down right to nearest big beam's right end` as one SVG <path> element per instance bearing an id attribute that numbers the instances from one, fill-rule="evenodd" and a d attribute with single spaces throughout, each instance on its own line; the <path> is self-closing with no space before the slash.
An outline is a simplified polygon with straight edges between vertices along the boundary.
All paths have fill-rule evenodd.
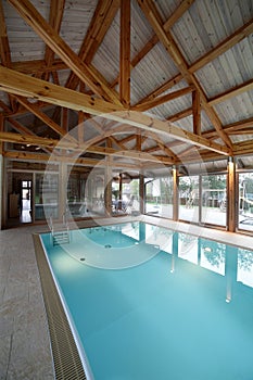
<path id="1" fill-rule="evenodd" d="M 184 75 L 185 79 L 188 81 L 189 85 L 193 85 L 195 89 L 199 91 L 202 106 L 205 110 L 211 122 L 213 123 L 215 129 L 217 130 L 217 134 L 219 135 L 222 140 L 226 143 L 226 145 L 232 150 L 232 143 L 228 138 L 228 136 L 224 132 L 222 123 L 217 114 L 212 109 L 212 106 L 210 106 L 210 104 L 207 103 L 207 99 L 202 87 L 200 86 L 194 75 L 189 72 L 185 58 L 182 56 L 180 50 L 178 49 L 172 34 L 164 29 L 161 15 L 156 10 L 155 4 L 151 2 L 151 0 L 147 0 L 144 2 L 142 2 L 141 0 L 138 0 L 138 3 L 142 9 L 142 11 L 144 12 L 150 24 L 152 25 L 160 41 L 164 45 L 168 54 L 173 58 L 175 64 L 177 65 L 180 73 Z"/>

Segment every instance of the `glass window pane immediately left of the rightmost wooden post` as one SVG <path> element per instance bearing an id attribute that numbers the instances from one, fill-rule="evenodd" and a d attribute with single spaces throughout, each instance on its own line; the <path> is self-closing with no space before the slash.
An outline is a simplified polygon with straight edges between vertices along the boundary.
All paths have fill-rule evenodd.
<path id="1" fill-rule="evenodd" d="M 227 223 L 227 175 L 202 176 L 201 221 L 226 226 Z"/>

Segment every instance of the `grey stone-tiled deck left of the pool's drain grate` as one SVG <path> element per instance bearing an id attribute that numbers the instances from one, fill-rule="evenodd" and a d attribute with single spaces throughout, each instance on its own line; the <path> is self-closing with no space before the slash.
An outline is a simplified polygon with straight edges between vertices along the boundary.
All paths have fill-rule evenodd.
<path id="1" fill-rule="evenodd" d="M 40 228 L 41 229 L 41 228 Z M 0 379 L 54 379 L 31 232 L 0 231 Z"/>

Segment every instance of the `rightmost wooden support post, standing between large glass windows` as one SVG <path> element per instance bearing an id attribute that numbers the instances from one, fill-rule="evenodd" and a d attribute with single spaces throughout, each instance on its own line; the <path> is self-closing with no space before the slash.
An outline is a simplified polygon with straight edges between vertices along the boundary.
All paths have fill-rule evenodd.
<path id="1" fill-rule="evenodd" d="M 236 231 L 236 164 L 233 157 L 228 159 L 228 186 L 227 186 L 227 226 L 228 231 Z"/>

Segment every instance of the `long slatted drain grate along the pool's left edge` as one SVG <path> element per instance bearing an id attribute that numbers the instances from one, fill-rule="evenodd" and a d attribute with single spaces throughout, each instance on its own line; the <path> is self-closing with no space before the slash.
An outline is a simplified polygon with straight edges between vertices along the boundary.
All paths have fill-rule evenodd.
<path id="1" fill-rule="evenodd" d="M 34 235 L 56 380 L 86 380 L 84 367 L 38 235 Z"/>

